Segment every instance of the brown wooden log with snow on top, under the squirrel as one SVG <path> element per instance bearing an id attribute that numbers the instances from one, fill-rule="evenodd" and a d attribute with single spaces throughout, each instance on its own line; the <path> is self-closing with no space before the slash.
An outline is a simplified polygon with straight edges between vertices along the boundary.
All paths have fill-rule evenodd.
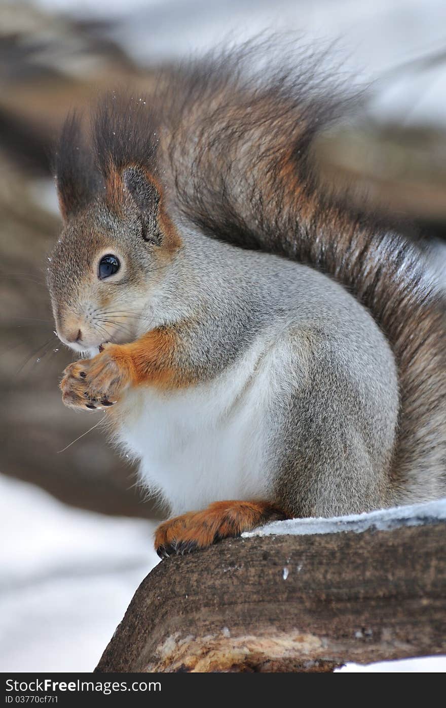
<path id="1" fill-rule="evenodd" d="M 446 500 L 164 560 L 97 671 L 323 671 L 446 653 Z"/>

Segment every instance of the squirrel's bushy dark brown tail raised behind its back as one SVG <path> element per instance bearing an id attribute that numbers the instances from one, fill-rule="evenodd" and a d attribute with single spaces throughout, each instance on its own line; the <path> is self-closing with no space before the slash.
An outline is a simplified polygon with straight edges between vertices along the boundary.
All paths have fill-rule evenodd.
<path id="1" fill-rule="evenodd" d="M 266 54 L 268 57 L 268 54 Z M 415 245 L 336 206 L 312 144 L 349 101 L 319 62 L 259 69 L 259 50 L 183 67 L 161 87 L 163 162 L 182 217 L 212 237 L 282 253 L 336 278 L 388 338 L 399 367 L 394 501 L 445 493 L 445 302 Z M 283 66 L 283 60 L 281 62 Z M 169 179 L 169 178 L 168 178 Z"/>

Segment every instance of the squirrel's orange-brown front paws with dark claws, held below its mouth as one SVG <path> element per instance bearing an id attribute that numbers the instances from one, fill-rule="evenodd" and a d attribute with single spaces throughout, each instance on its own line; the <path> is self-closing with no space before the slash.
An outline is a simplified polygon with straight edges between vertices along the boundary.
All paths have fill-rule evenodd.
<path id="1" fill-rule="evenodd" d="M 69 408 L 102 409 L 114 405 L 131 383 L 122 347 L 106 344 L 93 359 L 73 362 L 60 382 L 62 401 Z"/>

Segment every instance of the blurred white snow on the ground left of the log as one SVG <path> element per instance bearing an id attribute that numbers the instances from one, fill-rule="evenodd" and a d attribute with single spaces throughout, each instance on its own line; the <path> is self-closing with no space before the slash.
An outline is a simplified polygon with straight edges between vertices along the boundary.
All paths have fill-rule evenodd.
<path id="1" fill-rule="evenodd" d="M 159 559 L 154 525 L 0 476 L 0 670 L 92 671 Z"/>

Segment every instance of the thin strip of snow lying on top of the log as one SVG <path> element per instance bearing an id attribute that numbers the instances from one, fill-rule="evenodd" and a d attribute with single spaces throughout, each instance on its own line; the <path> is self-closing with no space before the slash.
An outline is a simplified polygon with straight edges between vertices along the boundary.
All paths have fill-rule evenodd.
<path id="1" fill-rule="evenodd" d="M 339 533 L 341 531 L 361 533 L 370 528 L 383 531 L 399 526 L 419 526 L 438 520 L 446 520 L 446 498 L 411 506 L 397 506 L 390 509 L 370 511 L 364 514 L 334 516 L 329 519 L 307 518 L 274 521 L 253 531 L 245 532 L 243 537 L 283 536 L 286 534 L 305 536 L 309 534 Z"/>

